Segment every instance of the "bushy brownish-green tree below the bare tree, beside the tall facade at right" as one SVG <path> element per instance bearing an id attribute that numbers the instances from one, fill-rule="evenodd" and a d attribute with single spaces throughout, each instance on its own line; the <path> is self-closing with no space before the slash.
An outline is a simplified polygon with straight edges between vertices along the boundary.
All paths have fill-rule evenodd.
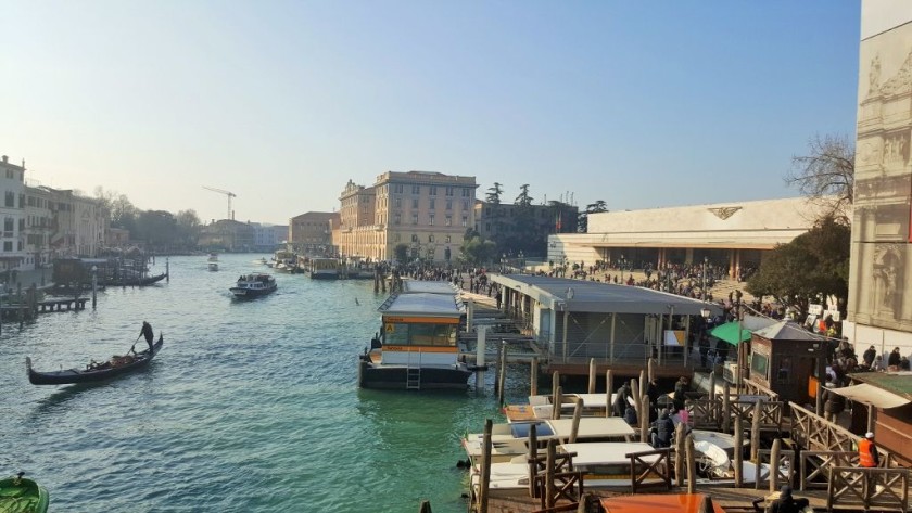
<path id="1" fill-rule="evenodd" d="M 850 245 L 851 229 L 835 216 L 824 217 L 807 233 L 765 255 L 745 290 L 758 297 L 773 296 L 802 312 L 821 295 L 846 298 Z"/>

